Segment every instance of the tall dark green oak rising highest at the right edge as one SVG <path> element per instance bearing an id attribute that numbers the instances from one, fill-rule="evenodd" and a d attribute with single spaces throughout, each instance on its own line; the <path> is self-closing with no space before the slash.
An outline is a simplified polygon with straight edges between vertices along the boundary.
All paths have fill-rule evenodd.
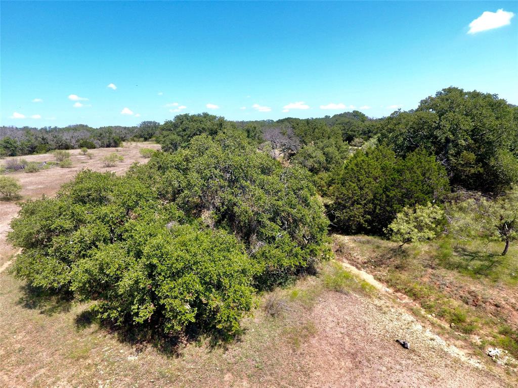
<path id="1" fill-rule="evenodd" d="M 502 191 L 518 182 L 518 121 L 497 95 L 445 88 L 411 112 L 395 112 L 380 140 L 399 156 L 418 147 L 447 168 L 453 185 Z"/>

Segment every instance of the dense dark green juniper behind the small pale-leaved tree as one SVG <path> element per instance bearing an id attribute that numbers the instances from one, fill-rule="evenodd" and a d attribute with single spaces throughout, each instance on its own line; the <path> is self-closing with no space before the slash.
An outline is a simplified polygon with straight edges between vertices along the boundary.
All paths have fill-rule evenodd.
<path id="1" fill-rule="evenodd" d="M 449 191 L 433 156 L 416 150 L 400 159 L 383 146 L 357 151 L 330 183 L 332 221 L 346 233 L 381 233 L 405 206 L 440 201 Z"/>

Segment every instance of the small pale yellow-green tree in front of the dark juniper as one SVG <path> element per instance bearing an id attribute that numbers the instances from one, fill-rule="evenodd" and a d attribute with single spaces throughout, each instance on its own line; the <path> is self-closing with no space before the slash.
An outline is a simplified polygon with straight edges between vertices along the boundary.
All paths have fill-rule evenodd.
<path id="1" fill-rule="evenodd" d="M 415 205 L 404 207 L 396 219 L 387 227 L 391 240 L 402 245 L 433 240 L 441 230 L 444 211 L 437 205 Z"/>

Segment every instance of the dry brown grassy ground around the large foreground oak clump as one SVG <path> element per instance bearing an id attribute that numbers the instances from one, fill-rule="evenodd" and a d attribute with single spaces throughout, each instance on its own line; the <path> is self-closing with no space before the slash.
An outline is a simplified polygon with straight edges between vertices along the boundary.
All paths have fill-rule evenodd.
<path id="1" fill-rule="evenodd" d="M 98 161 L 112 150 L 94 150 L 93 160 L 75 151 L 73 169 L 16 174 L 22 195 L 52 195 L 83 167 L 122 173 L 133 160 L 146 160 L 140 158 L 139 146 L 125 146 L 124 163 L 114 169 Z M 0 202 L 0 267 L 13 251 L 5 233 L 16 212 L 15 205 Z M 374 296 L 338 293 L 308 277 L 278 292 L 289 295 L 284 296 L 284 314 L 272 318 L 257 309 L 254 317 L 243 320 L 244 334 L 237 341 L 216 348 L 201 341 L 171 353 L 130 344 L 96 323 L 79 320 L 85 304 L 40 300 L 3 271 L 0 386 L 475 388 L 512 386 L 502 379 L 516 382 L 496 364 L 445 342 L 383 285 Z M 397 338 L 409 341 L 410 349 L 397 344 Z"/>

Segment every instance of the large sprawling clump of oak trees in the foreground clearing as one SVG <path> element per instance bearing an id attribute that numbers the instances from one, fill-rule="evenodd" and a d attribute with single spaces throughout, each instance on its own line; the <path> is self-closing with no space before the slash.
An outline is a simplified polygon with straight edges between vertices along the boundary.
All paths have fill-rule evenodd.
<path id="1" fill-rule="evenodd" d="M 238 136 L 198 136 L 123 177 L 80 172 L 23 203 L 8 238 L 23 248 L 18 277 L 103 319 L 232 334 L 257 289 L 327 255 L 327 223 L 307 171 Z"/>

